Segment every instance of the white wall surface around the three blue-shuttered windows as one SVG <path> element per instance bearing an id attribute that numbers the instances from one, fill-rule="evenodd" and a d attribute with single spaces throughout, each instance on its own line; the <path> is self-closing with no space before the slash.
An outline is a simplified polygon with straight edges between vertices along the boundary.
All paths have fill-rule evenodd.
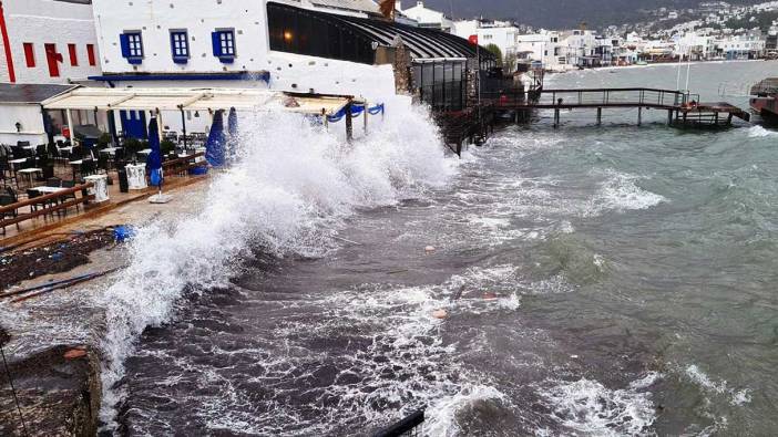
<path id="1" fill-rule="evenodd" d="M 132 4 L 131 4 L 132 3 Z M 298 4 L 299 6 L 299 4 Z M 105 73 L 270 73 L 270 89 L 280 91 L 348 94 L 379 101 L 395 94 L 390 65 L 366 65 L 323 58 L 269 51 L 265 1 L 255 0 L 147 0 L 116 2 L 94 0 L 95 22 Z M 223 64 L 213 55 L 211 33 L 234 28 L 236 58 Z M 190 62 L 173 62 L 171 29 L 186 29 Z M 119 35 L 141 30 L 144 59 L 131 65 L 122 58 Z M 116 86 L 219 86 L 267 87 L 262 81 L 116 82 Z"/>

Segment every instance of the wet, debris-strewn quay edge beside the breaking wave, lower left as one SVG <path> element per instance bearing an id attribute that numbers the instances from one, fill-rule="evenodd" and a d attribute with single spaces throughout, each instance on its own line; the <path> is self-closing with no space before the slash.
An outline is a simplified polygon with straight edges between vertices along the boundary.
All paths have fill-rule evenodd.
<path id="1" fill-rule="evenodd" d="M 96 435 L 100 427 L 103 393 L 102 371 L 105 365 L 102 343 L 105 337 L 106 312 L 102 293 L 119 278 L 129 258 L 127 248 L 114 244 L 112 227 L 143 225 L 152 220 L 173 220 L 186 215 L 199 202 L 197 194 L 207 184 L 192 179 L 170 188 L 174 207 L 160 207 L 143 201 L 105 208 L 101 214 L 84 215 L 40 231 L 38 246 L 25 243 L 3 253 L 0 259 L 23 260 L 27 268 L 38 268 L 30 278 L 17 274 L 7 282 L 24 279 L 4 292 L 42 287 L 94 272 L 112 272 L 83 283 L 64 287 L 32 299 L 13 302 L 0 299 L 0 341 L 8 361 L 0 368 L 0 435 Z M 96 236 L 95 239 L 85 236 Z M 81 241 L 83 240 L 83 241 Z M 30 247 L 32 244 L 32 247 Z M 60 253 L 58 259 L 45 258 Z M 38 257 L 38 258 L 37 258 Z M 51 257 L 51 256 L 50 256 Z M 2 269 L 0 267 L 0 269 Z M 25 270 L 27 273 L 27 270 Z M 47 289 L 43 289 L 47 290 Z M 22 294 L 22 299 L 25 295 Z M 8 336 L 1 335 L 7 332 Z M 2 365 L 2 363 L 0 363 Z M 17 408 L 10 389 L 11 375 Z M 20 412 L 24 425 L 20 420 Z M 24 430 L 27 428 L 27 431 Z"/>

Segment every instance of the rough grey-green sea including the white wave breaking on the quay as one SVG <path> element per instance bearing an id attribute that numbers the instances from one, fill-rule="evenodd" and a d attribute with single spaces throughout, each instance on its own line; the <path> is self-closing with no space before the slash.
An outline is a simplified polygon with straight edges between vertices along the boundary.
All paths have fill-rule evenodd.
<path id="1" fill-rule="evenodd" d="M 777 66 L 689 83 L 746 105 L 721 84 Z M 675 89 L 676 69 L 547 86 Z M 457 159 L 423 110 L 387 110 L 352 144 L 246 116 L 202 210 L 141 230 L 105 293 L 108 430 L 365 435 L 420 408 L 431 436 L 778 427 L 771 131 L 540 113 Z"/>

